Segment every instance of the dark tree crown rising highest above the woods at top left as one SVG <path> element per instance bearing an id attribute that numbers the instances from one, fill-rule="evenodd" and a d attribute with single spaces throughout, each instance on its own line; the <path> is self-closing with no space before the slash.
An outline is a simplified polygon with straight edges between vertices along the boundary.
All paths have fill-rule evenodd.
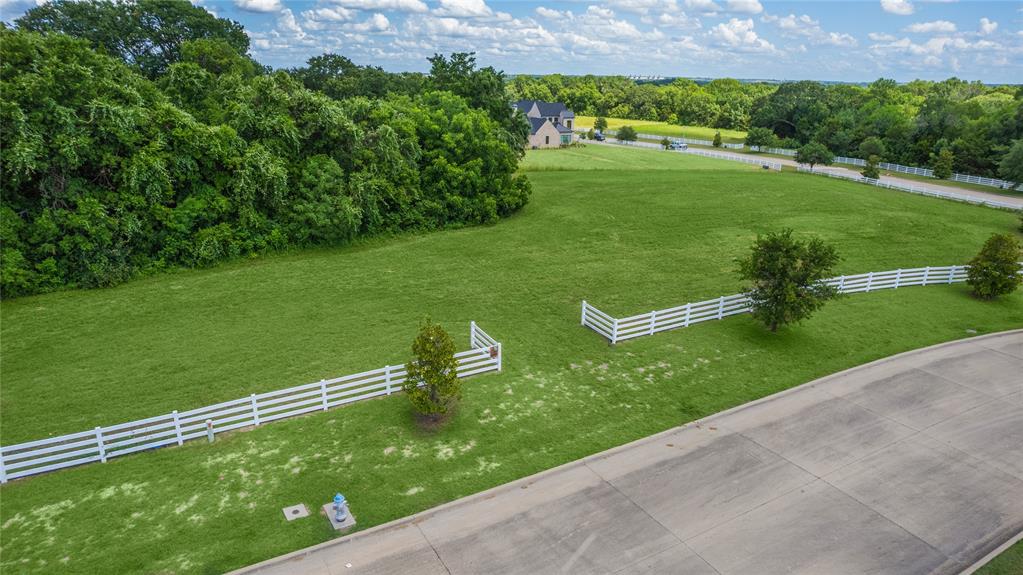
<path id="1" fill-rule="evenodd" d="M 148 78 L 179 61 L 189 40 L 217 39 L 238 54 L 249 51 L 241 25 L 187 0 L 53 0 L 15 21 L 19 30 L 84 38 Z"/>

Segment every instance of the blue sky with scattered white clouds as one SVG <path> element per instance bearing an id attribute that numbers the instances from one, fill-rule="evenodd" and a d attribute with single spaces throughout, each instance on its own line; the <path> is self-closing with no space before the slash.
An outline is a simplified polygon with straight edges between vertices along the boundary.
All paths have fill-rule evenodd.
<path id="1" fill-rule="evenodd" d="M 0 0 L 4 19 L 27 3 Z M 1023 83 L 1023 2 L 193 0 L 274 67 L 332 51 L 389 71 L 475 51 L 509 74 Z"/>

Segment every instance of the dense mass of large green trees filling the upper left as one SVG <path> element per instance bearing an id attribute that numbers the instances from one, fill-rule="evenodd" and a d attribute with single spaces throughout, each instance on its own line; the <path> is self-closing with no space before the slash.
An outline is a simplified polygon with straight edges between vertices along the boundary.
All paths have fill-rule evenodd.
<path id="1" fill-rule="evenodd" d="M 16 26 L 0 30 L 4 297 L 492 222 L 529 198 L 526 124 L 470 54 L 430 75 L 332 55 L 273 72 L 186 0 L 58 0 Z"/>

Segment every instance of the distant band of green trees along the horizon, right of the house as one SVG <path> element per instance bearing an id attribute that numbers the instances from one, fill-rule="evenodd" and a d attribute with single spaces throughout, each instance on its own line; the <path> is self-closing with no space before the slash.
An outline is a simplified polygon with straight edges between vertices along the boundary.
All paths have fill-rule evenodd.
<path id="1" fill-rule="evenodd" d="M 955 78 L 908 84 L 882 79 L 865 87 L 727 79 L 659 86 L 622 77 L 551 75 L 516 77 L 508 91 L 514 98 L 564 101 L 586 116 L 767 128 L 780 147 L 816 141 L 839 156 L 871 153 L 910 166 L 930 166 L 948 149 L 954 171 L 989 177 L 998 177 L 1003 158 L 1023 138 L 1023 87 Z"/>

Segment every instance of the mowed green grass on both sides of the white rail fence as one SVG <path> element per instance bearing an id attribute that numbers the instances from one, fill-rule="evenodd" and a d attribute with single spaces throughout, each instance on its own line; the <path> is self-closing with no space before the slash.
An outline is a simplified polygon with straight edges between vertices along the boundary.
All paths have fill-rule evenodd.
<path id="1" fill-rule="evenodd" d="M 737 316 L 609 347 L 579 325 L 580 300 L 630 315 L 736 293 L 733 259 L 758 232 L 820 235 L 855 273 L 962 263 L 1017 225 L 711 162 L 531 151 L 533 201 L 493 226 L 3 302 L 3 444 L 402 362 L 427 315 L 461 348 L 478 321 L 505 369 L 466 380 L 436 433 L 399 395 L 11 482 L 0 571 L 219 573 L 333 537 L 315 510 L 337 491 L 364 529 L 873 359 L 1023 326 L 1023 295 L 929 286 L 850 296 L 773 335 Z M 286 522 L 299 502 L 313 516 Z"/>

